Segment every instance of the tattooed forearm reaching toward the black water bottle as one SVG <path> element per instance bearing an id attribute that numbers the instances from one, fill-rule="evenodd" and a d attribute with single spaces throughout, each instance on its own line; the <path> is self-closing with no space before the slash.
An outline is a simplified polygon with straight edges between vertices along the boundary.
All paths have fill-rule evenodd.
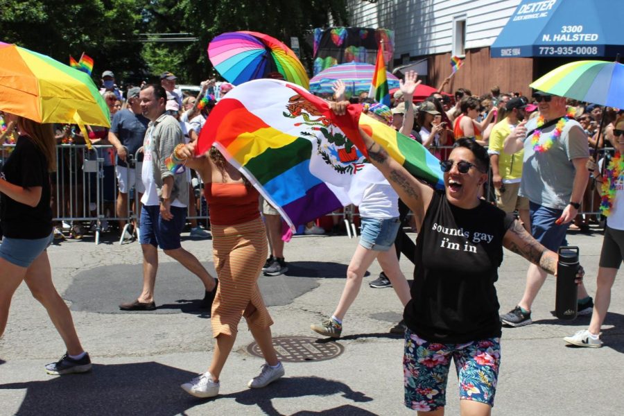
<path id="1" fill-rule="evenodd" d="M 535 240 L 518 220 L 514 220 L 510 229 L 503 236 L 503 246 L 514 253 L 520 254 L 542 270 L 555 275 L 557 272 L 557 253 L 548 250 Z"/>

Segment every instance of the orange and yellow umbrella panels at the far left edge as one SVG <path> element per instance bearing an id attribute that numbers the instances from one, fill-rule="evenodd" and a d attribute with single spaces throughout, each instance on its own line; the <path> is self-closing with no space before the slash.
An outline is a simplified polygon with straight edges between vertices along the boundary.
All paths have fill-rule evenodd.
<path id="1" fill-rule="evenodd" d="M 0 110 L 39 123 L 110 127 L 108 106 L 83 71 L 0 42 Z"/>

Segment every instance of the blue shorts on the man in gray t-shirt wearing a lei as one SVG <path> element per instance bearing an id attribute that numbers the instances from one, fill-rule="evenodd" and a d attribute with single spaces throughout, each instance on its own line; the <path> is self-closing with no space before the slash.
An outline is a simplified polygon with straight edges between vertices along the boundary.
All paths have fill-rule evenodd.
<path id="1" fill-rule="evenodd" d="M 571 223 L 557 225 L 555 221 L 563 214 L 563 209 L 548 208 L 529 202 L 531 234 L 541 245 L 557 252 L 562 245 L 568 245 L 566 232 Z"/>

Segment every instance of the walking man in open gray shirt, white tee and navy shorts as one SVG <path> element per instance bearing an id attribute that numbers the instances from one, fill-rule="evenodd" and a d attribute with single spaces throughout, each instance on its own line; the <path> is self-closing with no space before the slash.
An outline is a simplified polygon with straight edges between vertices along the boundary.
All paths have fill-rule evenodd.
<path id="1" fill-rule="evenodd" d="M 145 193 L 141 202 L 139 242 L 143 250 L 143 292 L 133 302 L 119 305 L 123 311 L 153 311 L 154 286 L 158 269 L 158 251 L 173 257 L 200 278 L 206 291 L 202 308 L 210 309 L 216 293 L 216 280 L 193 254 L 180 245 L 180 233 L 187 218 L 189 184 L 187 175 L 174 175 L 165 159 L 173 148 L 183 143 L 180 123 L 165 114 L 167 94 L 160 85 L 145 85 L 139 93 L 141 112 L 150 123 L 145 134 L 143 171 Z"/>

